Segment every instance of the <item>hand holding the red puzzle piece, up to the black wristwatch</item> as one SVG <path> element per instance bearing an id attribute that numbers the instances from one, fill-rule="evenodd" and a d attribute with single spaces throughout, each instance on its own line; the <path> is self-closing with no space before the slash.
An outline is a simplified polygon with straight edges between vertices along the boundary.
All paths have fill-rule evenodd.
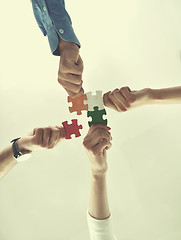
<path id="1" fill-rule="evenodd" d="M 35 128 L 27 136 L 20 138 L 17 143 L 20 151 L 33 151 L 40 148 L 52 149 L 60 140 L 65 138 L 63 127 Z"/>

